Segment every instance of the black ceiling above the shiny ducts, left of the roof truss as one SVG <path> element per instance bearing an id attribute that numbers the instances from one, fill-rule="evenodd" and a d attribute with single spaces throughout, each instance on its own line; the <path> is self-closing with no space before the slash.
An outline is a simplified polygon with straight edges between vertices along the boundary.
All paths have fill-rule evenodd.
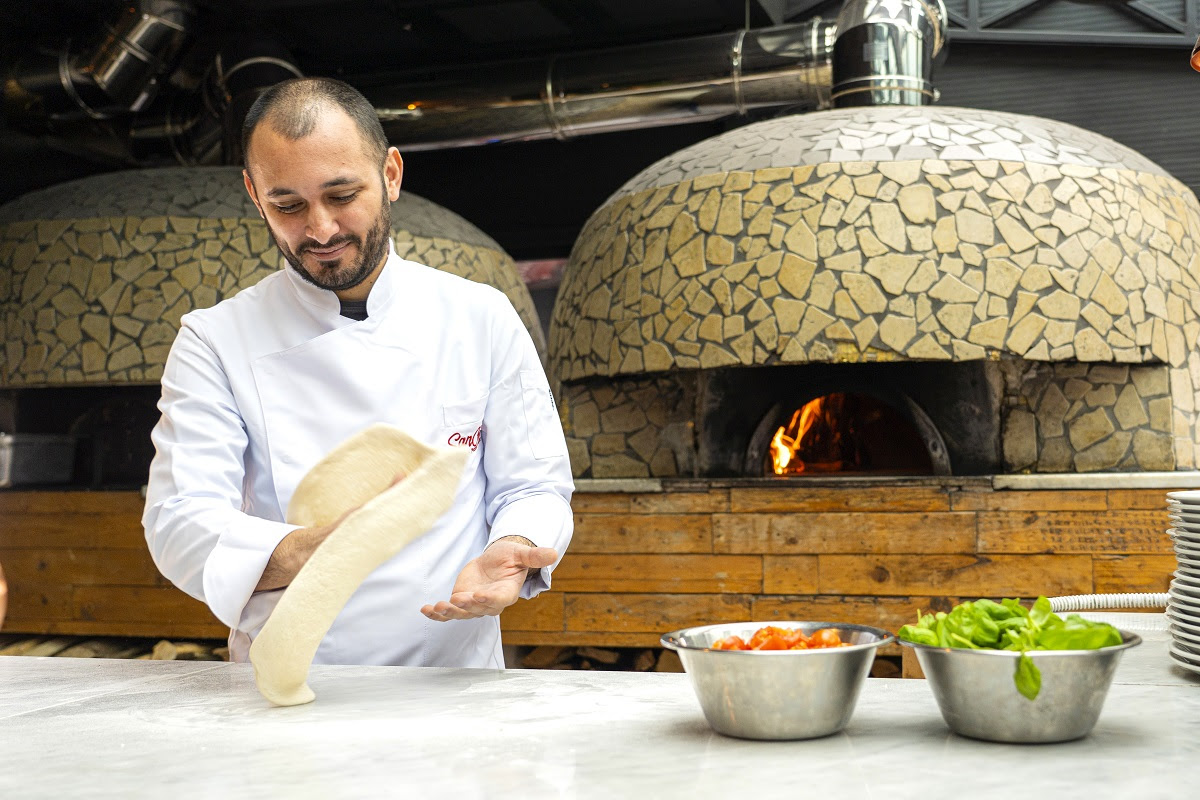
<path id="1" fill-rule="evenodd" d="M 788 2 L 744 0 L 198 0 L 204 34 L 271 37 L 312 74 L 474 64 L 692 36 L 781 22 Z M 0 2 L 0 42 L 95 36 L 112 0 Z M 797 7 L 802 7 L 797 5 Z M 804 2 L 803 7 L 811 7 Z"/>

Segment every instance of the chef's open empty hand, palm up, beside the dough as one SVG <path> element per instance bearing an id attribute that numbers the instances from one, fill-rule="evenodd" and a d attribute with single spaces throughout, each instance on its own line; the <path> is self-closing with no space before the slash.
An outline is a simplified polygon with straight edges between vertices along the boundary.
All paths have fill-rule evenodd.
<path id="1" fill-rule="evenodd" d="M 521 596 L 529 570 L 558 560 L 552 547 L 535 547 L 523 536 L 504 536 L 472 559 L 458 573 L 450 601 L 422 606 L 421 613 L 438 622 L 451 619 L 494 616 Z"/>

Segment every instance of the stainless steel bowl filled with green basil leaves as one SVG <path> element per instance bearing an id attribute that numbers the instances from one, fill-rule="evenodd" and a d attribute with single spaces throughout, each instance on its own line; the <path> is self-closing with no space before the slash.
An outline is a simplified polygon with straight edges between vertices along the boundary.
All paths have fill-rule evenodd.
<path id="1" fill-rule="evenodd" d="M 1042 670 L 1042 691 L 1032 700 L 1013 681 L 1019 652 L 900 644 L 917 652 L 950 730 L 989 741 L 1045 742 L 1079 739 L 1096 726 L 1121 654 L 1141 644 L 1128 631 L 1121 639 L 1099 650 L 1031 651 Z"/>

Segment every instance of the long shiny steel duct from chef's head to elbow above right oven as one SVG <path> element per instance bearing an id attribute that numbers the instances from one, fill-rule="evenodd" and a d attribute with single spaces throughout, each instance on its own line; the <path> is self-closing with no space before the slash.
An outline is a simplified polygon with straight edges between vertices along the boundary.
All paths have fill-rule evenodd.
<path id="1" fill-rule="evenodd" d="M 847 0 L 835 23 L 352 83 L 406 150 L 566 139 L 830 102 L 922 106 L 936 100 L 931 72 L 946 53 L 946 24 L 942 0 Z"/>

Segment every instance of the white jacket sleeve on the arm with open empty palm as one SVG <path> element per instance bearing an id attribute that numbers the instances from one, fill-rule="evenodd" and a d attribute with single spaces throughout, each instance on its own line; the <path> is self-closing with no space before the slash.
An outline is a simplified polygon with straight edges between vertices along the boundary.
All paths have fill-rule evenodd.
<path id="1" fill-rule="evenodd" d="M 574 530 L 571 463 L 550 383 L 529 332 L 497 291 L 491 321 L 492 385 L 484 411 L 484 471 L 488 543 L 524 536 L 553 547 L 559 560 Z M 553 564 L 521 588 L 533 597 L 550 588 Z"/>

